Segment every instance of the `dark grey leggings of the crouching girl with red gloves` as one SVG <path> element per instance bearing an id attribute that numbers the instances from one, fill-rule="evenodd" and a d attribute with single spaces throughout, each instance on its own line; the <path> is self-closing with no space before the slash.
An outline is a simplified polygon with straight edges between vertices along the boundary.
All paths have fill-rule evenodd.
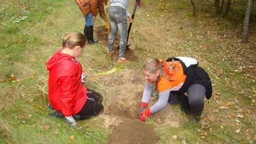
<path id="1" fill-rule="evenodd" d="M 184 95 L 177 95 L 170 92 L 168 102 L 170 104 L 178 104 L 182 102 L 188 103 L 188 109 L 189 112 L 193 115 L 201 115 L 202 111 L 204 110 L 204 97 L 206 88 L 202 84 L 192 84 L 188 88 L 188 100 L 186 99 L 186 96 Z M 182 98 L 183 97 L 183 98 Z M 181 99 L 182 102 L 180 101 Z"/>

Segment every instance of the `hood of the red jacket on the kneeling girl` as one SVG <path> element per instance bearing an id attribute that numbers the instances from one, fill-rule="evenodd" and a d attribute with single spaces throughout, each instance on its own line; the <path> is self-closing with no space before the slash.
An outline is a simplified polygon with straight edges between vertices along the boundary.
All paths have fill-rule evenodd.
<path id="1" fill-rule="evenodd" d="M 47 70 L 51 70 L 51 68 L 56 67 L 59 63 L 61 63 L 63 60 L 72 60 L 72 56 L 65 54 L 61 52 L 61 49 L 58 49 L 55 54 L 52 56 L 50 60 L 46 63 Z"/>

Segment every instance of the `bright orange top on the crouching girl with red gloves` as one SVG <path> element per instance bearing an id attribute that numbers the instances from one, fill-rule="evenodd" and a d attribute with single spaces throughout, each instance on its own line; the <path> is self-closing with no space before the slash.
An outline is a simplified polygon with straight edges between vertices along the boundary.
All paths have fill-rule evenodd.
<path id="1" fill-rule="evenodd" d="M 183 85 L 186 79 L 186 75 L 183 72 L 183 67 L 180 61 L 173 61 L 173 63 L 175 64 L 175 68 L 170 70 L 169 74 L 166 74 L 166 72 L 163 71 L 163 76 L 157 83 L 158 92 L 164 92 L 170 88 L 172 91 L 177 91 Z"/>

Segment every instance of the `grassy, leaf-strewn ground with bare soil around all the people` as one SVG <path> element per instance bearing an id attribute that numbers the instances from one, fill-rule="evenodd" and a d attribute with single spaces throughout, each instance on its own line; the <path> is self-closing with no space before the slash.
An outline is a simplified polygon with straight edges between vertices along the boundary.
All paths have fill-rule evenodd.
<path id="1" fill-rule="evenodd" d="M 104 113 L 72 129 L 47 116 L 45 61 L 60 48 L 61 36 L 82 32 L 84 22 L 74 1 L 50 2 L 31 3 L 24 11 L 38 13 L 18 24 L 11 17 L 15 7 L 1 13 L 0 143 L 256 143 L 255 23 L 250 42 L 241 44 L 241 24 L 189 17 L 189 2 L 177 8 L 181 2 L 163 7 L 159 1 L 143 1 L 132 24 L 129 62 L 123 64 L 116 63 L 118 49 L 113 59 L 106 55 L 108 31 L 97 17 L 99 43 L 86 45 L 79 61 L 86 86 L 104 97 Z M 171 105 L 145 123 L 136 118 L 145 86 L 143 60 L 171 56 L 196 58 L 212 79 L 213 95 L 209 103 L 205 100 L 201 124 L 189 122 L 179 106 Z"/>

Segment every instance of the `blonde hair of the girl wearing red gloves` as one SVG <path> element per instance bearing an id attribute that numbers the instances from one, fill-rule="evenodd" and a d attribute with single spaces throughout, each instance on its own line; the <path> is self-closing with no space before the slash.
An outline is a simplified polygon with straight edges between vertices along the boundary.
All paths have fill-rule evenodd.
<path id="1" fill-rule="evenodd" d="M 163 65 L 157 58 L 148 58 L 143 62 L 142 70 L 150 74 L 156 74 L 157 70 L 162 70 Z"/>

